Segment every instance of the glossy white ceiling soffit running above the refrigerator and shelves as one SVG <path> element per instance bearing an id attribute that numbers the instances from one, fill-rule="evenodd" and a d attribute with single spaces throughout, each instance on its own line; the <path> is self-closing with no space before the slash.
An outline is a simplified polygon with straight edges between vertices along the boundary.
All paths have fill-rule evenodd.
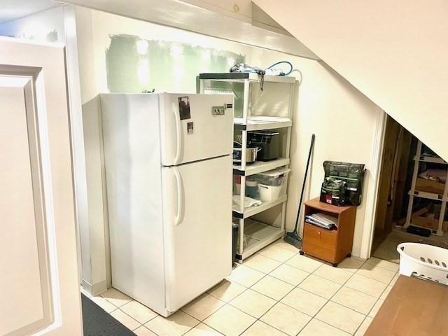
<path id="1" fill-rule="evenodd" d="M 252 25 L 251 22 L 248 22 L 251 21 L 248 18 L 240 20 L 241 18 L 223 15 L 208 7 L 192 4 L 202 1 L 64 0 L 64 2 L 123 15 L 127 18 L 225 38 L 229 41 L 317 59 L 316 55 L 296 38 L 287 33 L 283 34 L 283 29 L 281 29 L 281 32 L 276 31 L 274 26 L 264 29 L 265 27 L 259 27 L 260 25 Z"/>

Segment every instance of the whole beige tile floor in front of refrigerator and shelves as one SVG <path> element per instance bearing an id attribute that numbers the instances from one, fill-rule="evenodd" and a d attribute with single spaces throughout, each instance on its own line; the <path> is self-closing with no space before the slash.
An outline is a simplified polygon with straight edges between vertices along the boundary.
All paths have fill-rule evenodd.
<path id="1" fill-rule="evenodd" d="M 397 278 L 392 262 L 331 267 L 280 240 L 169 318 L 114 288 L 91 299 L 138 336 L 358 336 Z"/>

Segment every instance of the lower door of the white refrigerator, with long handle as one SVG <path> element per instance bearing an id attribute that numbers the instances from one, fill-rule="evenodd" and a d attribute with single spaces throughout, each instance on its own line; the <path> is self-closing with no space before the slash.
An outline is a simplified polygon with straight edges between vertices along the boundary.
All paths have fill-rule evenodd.
<path id="1" fill-rule="evenodd" d="M 162 167 L 167 310 L 174 312 L 232 270 L 230 155 Z"/>

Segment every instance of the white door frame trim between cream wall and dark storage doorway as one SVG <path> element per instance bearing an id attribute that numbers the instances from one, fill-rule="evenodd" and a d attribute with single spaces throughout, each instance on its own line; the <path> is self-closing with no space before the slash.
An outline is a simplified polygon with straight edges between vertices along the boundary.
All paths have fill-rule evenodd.
<path id="1" fill-rule="evenodd" d="M 372 139 L 371 167 L 369 178 L 373 180 L 374 188 L 367 190 L 365 195 L 365 214 L 363 235 L 361 239 L 360 258 L 370 258 L 372 252 L 375 217 L 379 192 L 379 174 L 381 174 L 382 153 L 386 132 L 387 113 L 378 109 L 375 131 Z"/>

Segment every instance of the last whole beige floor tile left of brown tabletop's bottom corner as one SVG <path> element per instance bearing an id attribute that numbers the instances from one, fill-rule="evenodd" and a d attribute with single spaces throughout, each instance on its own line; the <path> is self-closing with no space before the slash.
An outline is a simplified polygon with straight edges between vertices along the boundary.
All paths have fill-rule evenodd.
<path id="1" fill-rule="evenodd" d="M 318 312 L 316 318 L 333 327 L 353 334 L 364 321 L 365 315 L 329 301 L 323 306 L 321 311 Z"/>

